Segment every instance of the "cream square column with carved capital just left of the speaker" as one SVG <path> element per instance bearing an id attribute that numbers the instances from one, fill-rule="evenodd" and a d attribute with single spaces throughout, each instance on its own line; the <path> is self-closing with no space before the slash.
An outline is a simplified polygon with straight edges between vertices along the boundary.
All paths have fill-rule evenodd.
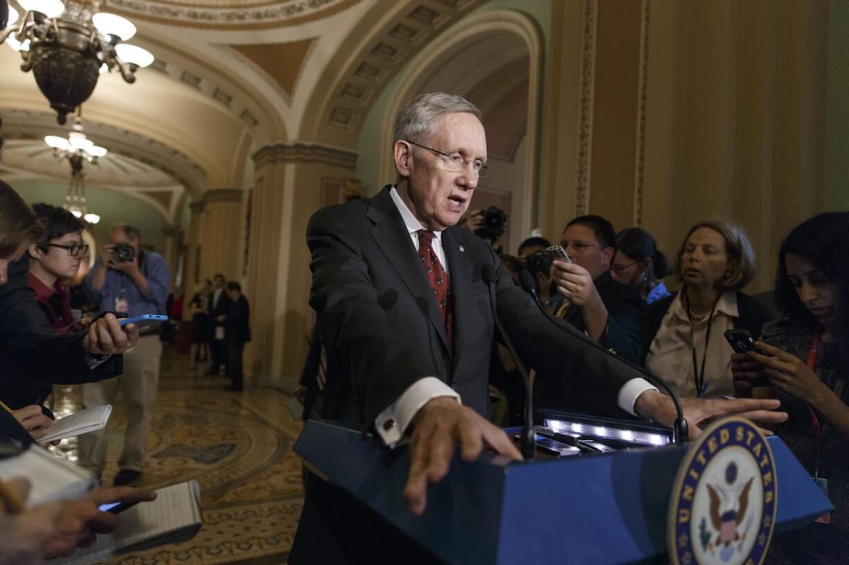
<path id="1" fill-rule="evenodd" d="M 253 159 L 245 285 L 253 343 L 245 366 L 252 375 L 248 383 L 292 389 L 314 323 L 306 224 L 354 176 L 357 155 L 321 145 L 274 143 Z"/>

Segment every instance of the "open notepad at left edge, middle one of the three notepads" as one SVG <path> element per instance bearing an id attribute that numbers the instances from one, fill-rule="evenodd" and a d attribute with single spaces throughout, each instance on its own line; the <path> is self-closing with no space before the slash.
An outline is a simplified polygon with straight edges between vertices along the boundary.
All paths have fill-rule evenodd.
<path id="1" fill-rule="evenodd" d="M 79 498 L 98 484 L 93 473 L 54 456 L 36 444 L 30 445 L 20 455 L 0 459 L 0 479 L 6 481 L 13 477 L 30 481 L 26 506 Z"/>

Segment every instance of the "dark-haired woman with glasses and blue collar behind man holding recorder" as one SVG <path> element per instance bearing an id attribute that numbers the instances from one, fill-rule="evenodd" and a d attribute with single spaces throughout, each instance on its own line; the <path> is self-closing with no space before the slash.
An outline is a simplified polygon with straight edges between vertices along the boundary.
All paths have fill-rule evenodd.
<path id="1" fill-rule="evenodd" d="M 610 262 L 613 280 L 636 288 L 645 303 L 651 304 L 670 295 L 661 281 L 670 274 L 669 261 L 649 232 L 627 227 L 616 234 L 616 255 Z"/>

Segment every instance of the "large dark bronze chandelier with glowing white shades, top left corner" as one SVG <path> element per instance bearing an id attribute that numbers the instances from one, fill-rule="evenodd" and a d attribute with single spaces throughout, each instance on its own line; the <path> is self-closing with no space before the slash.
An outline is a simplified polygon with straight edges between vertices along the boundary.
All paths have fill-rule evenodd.
<path id="1" fill-rule="evenodd" d="M 3 2 L 5 0 L 0 0 Z M 105 0 L 18 0 L 20 16 L 9 6 L 9 25 L 0 43 L 19 51 L 23 71 L 32 70 L 38 87 L 56 110 L 59 124 L 92 95 L 102 72 L 117 70 L 129 83 L 140 67 L 154 62 L 143 48 L 124 43 L 136 33 L 130 20 L 101 12 Z"/>

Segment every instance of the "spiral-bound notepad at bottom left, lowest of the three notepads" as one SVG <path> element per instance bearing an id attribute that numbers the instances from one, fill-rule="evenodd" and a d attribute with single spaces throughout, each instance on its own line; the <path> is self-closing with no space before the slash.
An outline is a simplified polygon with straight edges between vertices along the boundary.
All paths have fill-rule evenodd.
<path id="1" fill-rule="evenodd" d="M 110 534 L 98 535 L 94 545 L 51 563 L 89 565 L 114 555 L 149 550 L 194 538 L 200 531 L 200 485 L 196 481 L 173 484 L 156 491 L 156 500 L 140 502 L 118 515 L 120 523 Z"/>

